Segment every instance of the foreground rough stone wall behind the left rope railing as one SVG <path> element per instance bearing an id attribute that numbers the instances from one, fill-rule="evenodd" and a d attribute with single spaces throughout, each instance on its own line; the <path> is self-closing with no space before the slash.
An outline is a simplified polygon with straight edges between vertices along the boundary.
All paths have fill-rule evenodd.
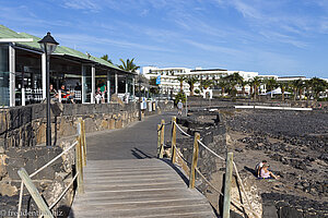
<path id="1" fill-rule="evenodd" d="M 35 172 L 69 147 L 71 143 L 73 143 L 73 141 L 67 141 L 54 147 L 11 147 L 7 150 L 0 150 L 0 208 L 3 217 L 13 217 L 15 216 L 14 213 L 17 211 L 21 185 L 17 170 L 24 168 L 28 174 Z M 47 204 L 51 205 L 72 180 L 73 171 L 74 149 L 71 149 L 32 179 L 34 185 L 40 192 Z M 56 205 L 54 211 L 58 211 L 58 214 L 62 215 L 67 213 L 72 196 L 73 186 L 71 186 L 63 198 Z M 36 215 L 39 211 L 25 187 L 22 201 L 22 217 L 27 217 L 25 215 L 28 213 L 30 215 Z"/>

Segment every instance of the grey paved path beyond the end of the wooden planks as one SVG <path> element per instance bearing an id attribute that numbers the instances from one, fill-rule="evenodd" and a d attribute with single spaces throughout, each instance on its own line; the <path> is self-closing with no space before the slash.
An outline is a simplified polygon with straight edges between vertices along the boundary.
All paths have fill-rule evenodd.
<path id="1" fill-rule="evenodd" d="M 92 134 L 86 137 L 89 160 L 141 159 L 156 157 L 157 124 L 162 119 L 169 122 L 175 112 L 144 118 L 120 130 Z M 169 126 L 165 138 L 169 138 Z"/>

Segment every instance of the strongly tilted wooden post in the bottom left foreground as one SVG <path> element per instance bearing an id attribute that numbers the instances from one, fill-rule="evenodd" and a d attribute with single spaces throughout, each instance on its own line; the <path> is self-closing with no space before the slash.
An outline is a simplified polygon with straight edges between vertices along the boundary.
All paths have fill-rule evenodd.
<path id="1" fill-rule="evenodd" d="M 19 170 L 19 175 L 24 182 L 26 189 L 28 190 L 30 194 L 32 195 L 35 204 L 39 208 L 42 215 L 46 218 L 54 218 L 52 213 L 48 208 L 47 204 L 45 203 L 44 198 L 38 193 L 37 189 L 33 184 L 30 175 L 27 174 L 26 170 L 24 168 L 21 168 Z"/>

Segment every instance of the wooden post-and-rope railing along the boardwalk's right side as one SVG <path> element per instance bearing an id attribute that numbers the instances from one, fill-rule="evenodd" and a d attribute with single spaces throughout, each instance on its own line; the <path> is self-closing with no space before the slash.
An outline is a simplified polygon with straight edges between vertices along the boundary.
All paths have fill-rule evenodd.
<path id="1" fill-rule="evenodd" d="M 195 189 L 195 180 L 196 180 L 196 173 L 198 173 L 202 180 L 211 186 L 216 193 L 222 195 L 223 198 L 223 218 L 229 218 L 230 217 L 230 205 L 233 204 L 236 208 L 241 209 L 242 211 L 245 211 L 247 217 L 256 217 L 260 218 L 261 216 L 258 215 L 248 198 L 248 195 L 245 191 L 244 182 L 239 177 L 237 166 L 233 161 L 233 153 L 227 153 L 226 158 L 221 157 L 216 153 L 214 153 L 211 148 L 209 148 L 207 145 L 204 145 L 200 138 L 199 133 L 195 133 L 194 136 L 189 135 L 186 133 L 177 123 L 176 123 L 176 117 L 172 118 L 172 121 L 169 122 L 172 124 L 172 138 L 171 138 L 171 161 L 172 164 L 178 164 L 180 168 L 184 170 L 184 172 L 189 177 L 189 187 Z M 164 156 L 164 131 L 165 131 L 165 125 L 169 124 L 165 123 L 164 120 L 161 121 L 161 124 L 157 125 L 157 157 L 163 158 Z M 192 159 L 191 162 L 188 162 L 185 158 L 184 155 L 177 149 L 176 145 L 176 130 L 179 130 L 180 133 L 187 137 L 194 137 L 194 150 L 192 150 Z M 198 164 L 198 154 L 199 154 L 199 146 L 202 146 L 206 150 L 211 153 L 213 156 L 215 156 L 218 159 L 221 161 L 225 162 L 225 181 L 224 181 L 224 194 L 218 190 L 199 170 L 197 167 Z M 233 169 L 235 170 L 238 183 L 241 184 L 242 191 L 244 193 L 244 196 L 246 198 L 247 206 L 245 204 L 239 202 L 236 202 L 235 199 L 231 199 L 231 184 L 232 184 L 232 175 L 233 175 Z M 242 198 L 242 196 L 241 196 Z M 241 208 L 243 207 L 243 208 Z M 219 208 L 219 203 L 218 207 Z"/>

